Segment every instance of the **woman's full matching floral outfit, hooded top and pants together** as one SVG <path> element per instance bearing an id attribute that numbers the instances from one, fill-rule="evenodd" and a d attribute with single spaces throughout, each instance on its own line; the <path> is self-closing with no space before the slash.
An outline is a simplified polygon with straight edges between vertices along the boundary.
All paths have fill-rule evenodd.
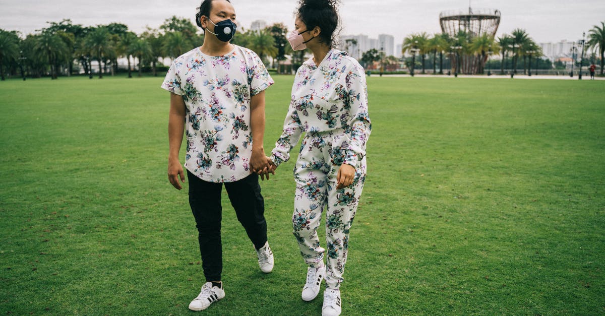
<path id="1" fill-rule="evenodd" d="M 349 229 L 365 182 L 365 145 L 371 133 L 367 103 L 364 70 L 346 53 L 331 50 L 319 67 L 305 62 L 296 72 L 283 133 L 271 156 L 276 165 L 289 160 L 305 133 L 294 170 L 293 234 L 305 262 L 321 265 L 325 249 L 316 231 L 325 209 L 325 280 L 333 289 L 343 280 Z M 345 163 L 355 168 L 355 179 L 336 189 L 338 169 Z"/>

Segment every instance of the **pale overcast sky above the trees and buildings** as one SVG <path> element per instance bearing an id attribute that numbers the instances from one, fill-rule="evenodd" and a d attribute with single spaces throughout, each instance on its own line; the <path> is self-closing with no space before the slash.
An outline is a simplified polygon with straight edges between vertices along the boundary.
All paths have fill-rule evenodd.
<path id="1" fill-rule="evenodd" d="M 24 35 L 45 27 L 47 21 L 71 19 L 74 24 L 120 22 L 140 33 L 157 28 L 173 15 L 191 18 L 200 0 L 0 0 L 0 28 Z M 296 0 L 232 0 L 238 21 L 245 28 L 261 19 L 293 27 Z M 468 10 L 468 0 L 342 0 L 342 35 L 390 34 L 399 44 L 411 33 L 439 33 L 439 13 Z M 524 28 L 537 42 L 581 39 L 582 32 L 605 21 L 605 0 L 474 0 L 473 8 L 502 12 L 497 36 Z"/>

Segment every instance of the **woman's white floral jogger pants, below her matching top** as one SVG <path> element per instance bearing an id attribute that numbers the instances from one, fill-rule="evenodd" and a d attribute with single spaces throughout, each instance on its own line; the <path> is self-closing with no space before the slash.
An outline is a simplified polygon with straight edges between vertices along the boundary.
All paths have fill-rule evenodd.
<path id="1" fill-rule="evenodd" d="M 357 162 L 352 185 L 336 189 L 340 167 L 333 163 L 333 157 L 339 152 L 332 148 L 334 136 L 333 132 L 307 133 L 302 140 L 294 170 L 296 194 L 292 216 L 293 234 L 302 258 L 309 266 L 318 268 L 324 259 L 325 249 L 321 248 L 316 231 L 325 209 L 328 248 L 325 283 L 330 289 L 338 289 L 343 281 L 349 229 L 357 211 L 366 173 L 364 157 Z"/>

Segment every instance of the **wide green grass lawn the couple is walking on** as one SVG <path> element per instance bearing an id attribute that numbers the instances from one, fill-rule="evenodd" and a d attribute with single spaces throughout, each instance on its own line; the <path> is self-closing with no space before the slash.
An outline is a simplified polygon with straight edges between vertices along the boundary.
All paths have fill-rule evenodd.
<path id="1" fill-rule="evenodd" d="M 293 77 L 275 80 L 267 153 Z M 0 82 L 0 314 L 194 314 L 197 231 L 186 189 L 166 180 L 161 81 Z M 605 314 L 605 82 L 370 77 L 368 88 L 343 315 Z M 269 275 L 224 195 L 227 296 L 198 314 L 321 312 L 321 296 L 300 298 L 292 168 L 262 183 Z"/>

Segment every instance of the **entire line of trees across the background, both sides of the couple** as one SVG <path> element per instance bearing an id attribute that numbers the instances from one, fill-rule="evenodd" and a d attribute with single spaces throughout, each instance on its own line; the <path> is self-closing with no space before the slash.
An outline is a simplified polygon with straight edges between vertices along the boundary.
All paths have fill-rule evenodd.
<path id="1" fill-rule="evenodd" d="M 83 72 L 92 77 L 93 61 L 97 63 L 96 71 L 102 78 L 103 74 L 113 75 L 120 71 L 117 62 L 120 58 L 126 58 L 128 61 L 128 77 L 132 77 L 132 69 L 135 67 L 139 76 L 142 76 L 143 69 L 148 69 L 157 76 L 157 64 L 162 58 L 174 59 L 198 47 L 204 36 L 189 19 L 176 16 L 166 19 L 159 28 L 146 28 L 139 35 L 119 23 L 85 27 L 73 24 L 70 19 L 64 19 L 48 24 L 48 27 L 25 38 L 21 38 L 18 31 L 0 29 L 2 80 L 5 79 L 5 73 L 11 76 L 20 73 L 23 77 L 48 75 L 56 79 L 59 75 L 70 76 Z M 232 42 L 252 49 L 266 64 L 270 60 L 274 67 L 275 62 L 285 60 L 287 55 L 292 56 L 294 69 L 304 62 L 306 51 L 292 51 L 286 39 L 285 25 L 273 24 L 257 31 L 243 28 L 240 30 Z M 355 39 L 347 39 L 343 44 L 346 50 L 356 42 Z M 603 74 L 605 22 L 589 30 L 586 44 L 586 50 L 600 53 L 600 71 Z M 473 37 L 465 31 L 460 31 L 453 37 L 445 33 L 433 36 L 416 33 L 404 39 L 402 53 L 411 53 L 411 59 L 404 59 L 404 62 L 412 70 L 419 66 L 422 73 L 425 73 L 427 58 L 432 60 L 430 64 L 433 65 L 433 73 L 436 73 L 437 56 L 439 73 L 443 73 L 444 55 L 456 71 L 483 73 L 490 54 L 502 54 L 501 73 L 504 73 L 506 61 L 511 64 L 515 73 L 521 65 L 523 73 L 526 73 L 531 68 L 532 58 L 537 59 L 543 55 L 539 45 L 520 28 L 499 38 L 488 35 Z M 416 61 L 416 56 L 419 61 Z M 131 64 L 131 61 L 137 64 Z M 388 68 L 399 65 L 401 60 L 372 49 L 362 54 L 360 62 L 364 67 L 378 62 L 381 67 Z"/>

